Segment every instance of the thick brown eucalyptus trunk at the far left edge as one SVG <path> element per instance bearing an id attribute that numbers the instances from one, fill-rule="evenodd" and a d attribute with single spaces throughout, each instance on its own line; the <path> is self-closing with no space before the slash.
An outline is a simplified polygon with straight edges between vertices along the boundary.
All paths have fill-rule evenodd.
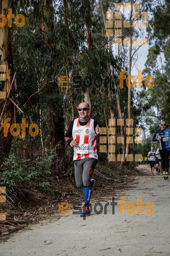
<path id="1" fill-rule="evenodd" d="M 6 1 L 0 1 L 0 13 L 7 16 L 9 8 L 9 0 Z M 0 22 L 2 23 L 3 20 L 0 19 Z M 3 83 L 0 90 L 2 92 L 6 92 L 6 95 L 9 92 L 11 82 L 13 79 L 13 60 L 12 60 L 12 52 L 11 52 L 11 45 L 10 45 L 10 35 L 9 35 L 9 27 L 8 27 L 8 21 L 6 22 L 6 25 L 4 27 L 0 28 L 0 64 L 5 66 L 5 79 L 4 81 L 1 81 Z M 11 88 L 11 92 L 9 94 L 9 97 L 13 97 L 13 85 Z M 1 105 L 1 115 L 2 115 L 2 109 L 4 108 L 5 101 L 4 99 L 0 99 Z M 0 115 L 0 116 L 1 116 Z M 1 124 L 4 123 L 4 120 L 6 118 L 10 118 L 10 126 L 13 124 L 14 121 L 14 106 L 10 100 L 7 101 L 3 115 L 0 122 L 0 151 L 2 151 L 5 156 L 8 155 L 10 148 L 11 148 L 11 140 L 12 135 L 10 132 L 10 129 L 8 128 L 7 136 L 4 137 L 4 128 Z M 1 154 L 0 154 L 1 156 Z"/>

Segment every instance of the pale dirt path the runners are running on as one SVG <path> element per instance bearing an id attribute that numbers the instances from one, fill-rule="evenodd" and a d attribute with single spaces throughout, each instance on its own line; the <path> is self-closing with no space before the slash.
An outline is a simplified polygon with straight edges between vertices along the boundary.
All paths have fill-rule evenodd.
<path id="1" fill-rule="evenodd" d="M 136 212 L 129 215 L 126 206 L 123 206 L 123 214 L 120 215 L 118 205 L 115 205 L 115 214 L 112 214 L 112 206 L 109 205 L 107 214 L 104 210 L 95 214 L 93 210 L 84 220 L 72 214 L 71 210 L 70 215 L 43 221 L 11 236 L 0 244 L 0 255 L 170 255 L 169 180 L 156 174 L 151 176 L 149 165 L 138 168 L 144 175 L 135 177 L 138 184 L 134 184 L 133 189 L 117 195 L 114 191 L 111 193 L 115 202 L 126 196 L 126 205 L 128 202 L 137 205 L 138 196 L 141 196 L 144 205 L 147 202 L 154 204 L 153 214 L 147 215 L 142 206 L 142 214 L 138 215 L 136 206 Z M 111 202 L 111 198 L 107 202 Z M 103 207 L 106 204 L 100 203 Z M 129 209 L 132 210 L 132 207 Z M 100 210 L 99 206 L 97 210 Z"/>

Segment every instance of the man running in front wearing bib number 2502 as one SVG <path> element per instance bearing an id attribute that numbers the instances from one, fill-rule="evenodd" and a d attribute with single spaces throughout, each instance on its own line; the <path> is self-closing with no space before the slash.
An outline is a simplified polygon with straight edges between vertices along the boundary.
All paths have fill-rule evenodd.
<path id="1" fill-rule="evenodd" d="M 67 144 L 74 148 L 74 174 L 78 188 L 83 187 L 85 204 L 81 217 L 89 216 L 89 202 L 93 194 L 95 180 L 92 173 L 97 164 L 96 135 L 100 132 L 100 123 L 88 116 L 89 105 L 82 102 L 78 105 L 79 118 L 74 119 L 64 139 Z M 73 140 L 71 140 L 73 136 Z"/>

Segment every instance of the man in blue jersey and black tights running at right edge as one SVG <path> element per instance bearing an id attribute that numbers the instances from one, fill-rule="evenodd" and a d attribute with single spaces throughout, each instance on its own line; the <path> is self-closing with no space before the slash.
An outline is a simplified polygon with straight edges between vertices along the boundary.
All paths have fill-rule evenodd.
<path id="1" fill-rule="evenodd" d="M 166 128 L 166 122 L 162 121 L 160 123 L 161 128 L 157 130 L 153 136 L 152 141 L 158 141 L 159 154 L 162 159 L 162 170 L 164 173 L 164 180 L 169 180 L 169 153 L 170 153 L 170 129 Z"/>

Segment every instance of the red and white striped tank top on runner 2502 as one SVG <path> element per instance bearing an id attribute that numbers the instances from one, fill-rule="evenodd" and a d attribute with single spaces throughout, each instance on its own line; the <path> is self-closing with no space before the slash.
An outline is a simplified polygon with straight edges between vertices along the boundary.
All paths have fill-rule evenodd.
<path id="1" fill-rule="evenodd" d="M 83 158 L 95 158 L 98 159 L 97 155 L 97 146 L 96 146 L 96 133 L 94 131 L 94 119 L 89 119 L 89 122 L 81 126 L 79 123 L 79 119 L 74 120 L 73 129 L 72 129 L 72 136 L 73 140 L 76 139 L 77 143 L 80 144 L 88 144 L 89 152 L 88 154 L 77 154 L 76 147 L 74 147 L 74 160 L 80 160 Z"/>

